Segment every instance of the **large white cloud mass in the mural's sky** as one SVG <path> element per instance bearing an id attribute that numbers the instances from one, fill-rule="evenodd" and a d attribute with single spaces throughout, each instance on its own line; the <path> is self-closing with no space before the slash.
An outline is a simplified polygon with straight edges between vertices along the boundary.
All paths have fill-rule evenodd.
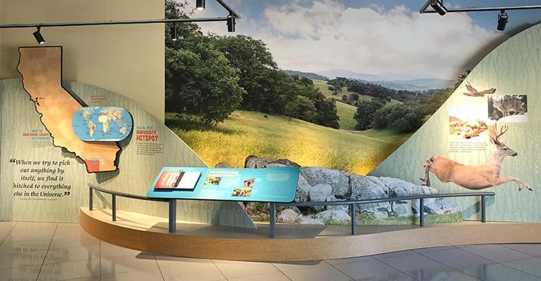
<path id="1" fill-rule="evenodd" d="M 223 26 L 205 28 L 225 34 Z M 466 13 L 419 14 L 405 6 L 346 8 L 334 0 L 267 6 L 237 31 L 261 39 L 282 69 L 344 69 L 454 79 L 472 55 L 501 34 L 474 25 Z M 474 59 L 475 60 L 475 59 Z"/>

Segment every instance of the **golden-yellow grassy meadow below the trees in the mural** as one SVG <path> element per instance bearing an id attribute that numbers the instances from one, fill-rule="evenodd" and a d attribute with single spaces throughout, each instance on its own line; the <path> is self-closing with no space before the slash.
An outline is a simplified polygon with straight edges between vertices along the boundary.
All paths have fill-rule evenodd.
<path id="1" fill-rule="evenodd" d="M 356 174 L 367 174 L 410 136 L 389 130 L 330 129 L 242 110 L 216 126 L 205 127 L 171 113 L 166 114 L 166 124 L 209 166 L 226 162 L 242 167 L 248 155 L 257 155 Z"/>

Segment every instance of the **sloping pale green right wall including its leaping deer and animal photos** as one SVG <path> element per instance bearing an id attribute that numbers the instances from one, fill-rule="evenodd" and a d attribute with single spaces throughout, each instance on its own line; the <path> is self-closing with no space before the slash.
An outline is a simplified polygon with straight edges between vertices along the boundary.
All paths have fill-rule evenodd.
<path id="1" fill-rule="evenodd" d="M 370 174 L 421 183 L 423 164 L 431 164 L 432 170 L 440 169 L 438 177 L 430 173 L 431 186 L 439 192 L 495 192 L 488 201 L 488 220 L 541 221 L 536 207 L 541 200 L 540 40 L 541 25 L 535 25 L 495 48 L 426 124 Z M 454 182 L 442 182 L 449 179 Z M 476 218 L 476 200 L 455 202 L 464 218 Z"/>

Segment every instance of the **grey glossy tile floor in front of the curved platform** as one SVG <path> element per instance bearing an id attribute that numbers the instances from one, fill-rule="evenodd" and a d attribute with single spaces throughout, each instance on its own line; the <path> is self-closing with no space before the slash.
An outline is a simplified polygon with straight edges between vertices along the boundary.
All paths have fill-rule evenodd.
<path id="1" fill-rule="evenodd" d="M 541 244 L 256 263 L 126 249 L 92 237 L 77 223 L 0 221 L 0 281 L 8 280 L 541 280 Z"/>

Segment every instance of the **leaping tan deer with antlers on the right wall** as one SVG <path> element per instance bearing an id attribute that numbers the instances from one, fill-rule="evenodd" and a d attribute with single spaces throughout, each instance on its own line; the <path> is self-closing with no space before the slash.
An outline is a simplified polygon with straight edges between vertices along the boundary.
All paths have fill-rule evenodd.
<path id="1" fill-rule="evenodd" d="M 519 185 L 519 191 L 523 188 L 533 191 L 533 189 L 523 181 L 512 176 L 506 176 L 500 178 L 500 169 L 502 168 L 502 161 L 504 157 L 516 156 L 517 153 L 508 148 L 507 145 L 498 141 L 498 138 L 507 131 L 507 126 L 503 126 L 498 132 L 496 124 L 494 125 L 494 132 L 490 131 L 490 142 L 493 143 L 495 150 L 492 159 L 486 164 L 480 166 L 466 166 L 451 159 L 434 155 L 430 159 L 427 159 L 424 163 L 424 185 L 430 186 L 429 171 L 434 173 L 440 181 L 443 183 L 456 183 L 463 188 L 471 190 L 479 190 L 483 188 L 490 188 L 509 181 L 514 181 Z"/>

